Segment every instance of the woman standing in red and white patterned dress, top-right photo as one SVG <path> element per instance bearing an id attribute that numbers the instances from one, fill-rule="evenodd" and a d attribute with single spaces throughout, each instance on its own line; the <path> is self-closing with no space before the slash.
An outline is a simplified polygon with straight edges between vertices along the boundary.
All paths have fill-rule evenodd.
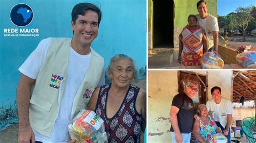
<path id="1" fill-rule="evenodd" d="M 190 15 L 186 25 L 179 35 L 179 55 L 178 62 L 183 66 L 198 66 L 199 59 L 203 55 L 203 45 L 205 51 L 208 49 L 205 31 L 197 25 L 197 17 Z M 182 60 L 181 60 L 182 59 Z"/>

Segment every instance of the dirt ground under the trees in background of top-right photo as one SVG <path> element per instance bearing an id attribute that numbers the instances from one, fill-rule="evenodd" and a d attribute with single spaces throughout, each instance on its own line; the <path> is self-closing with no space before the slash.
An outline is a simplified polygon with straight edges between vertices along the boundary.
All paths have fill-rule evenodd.
<path id="1" fill-rule="evenodd" d="M 254 47 L 253 51 L 256 51 L 256 37 L 254 36 L 246 36 L 246 41 L 242 40 L 242 35 L 234 35 L 233 37 L 228 37 L 230 40 L 228 40 L 227 47 L 231 47 L 234 49 L 237 49 L 238 47 L 245 45 L 249 46 L 252 45 Z M 219 44 L 223 42 L 223 39 L 219 38 Z"/>

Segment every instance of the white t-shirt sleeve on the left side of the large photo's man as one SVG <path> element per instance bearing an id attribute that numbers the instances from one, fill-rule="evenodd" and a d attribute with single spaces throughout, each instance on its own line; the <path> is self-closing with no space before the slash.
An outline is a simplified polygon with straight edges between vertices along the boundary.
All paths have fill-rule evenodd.
<path id="1" fill-rule="evenodd" d="M 36 80 L 50 45 L 51 38 L 40 41 L 37 48 L 29 55 L 22 66 L 19 67 L 19 71 L 21 71 L 22 74 Z"/>

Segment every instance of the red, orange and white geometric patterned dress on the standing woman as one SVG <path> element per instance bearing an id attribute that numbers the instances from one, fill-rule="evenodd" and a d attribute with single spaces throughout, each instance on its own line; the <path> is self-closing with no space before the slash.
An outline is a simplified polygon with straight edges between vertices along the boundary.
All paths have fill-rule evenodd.
<path id="1" fill-rule="evenodd" d="M 183 66 L 198 66 L 199 59 L 203 55 L 203 37 L 204 30 L 197 25 L 193 30 L 189 26 L 183 28 L 181 34 L 183 35 Z"/>

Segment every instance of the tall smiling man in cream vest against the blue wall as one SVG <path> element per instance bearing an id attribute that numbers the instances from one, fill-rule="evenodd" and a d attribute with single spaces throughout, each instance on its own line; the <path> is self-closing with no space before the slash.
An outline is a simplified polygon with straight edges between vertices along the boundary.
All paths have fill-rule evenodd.
<path id="1" fill-rule="evenodd" d="M 91 48 L 102 12 L 94 4 L 79 3 L 71 15 L 72 39 L 42 40 L 19 68 L 18 142 L 68 142 L 71 118 L 86 108 L 84 101 L 89 101 L 93 90 L 105 84 L 104 59 Z M 54 73 L 47 78 L 49 71 Z"/>

